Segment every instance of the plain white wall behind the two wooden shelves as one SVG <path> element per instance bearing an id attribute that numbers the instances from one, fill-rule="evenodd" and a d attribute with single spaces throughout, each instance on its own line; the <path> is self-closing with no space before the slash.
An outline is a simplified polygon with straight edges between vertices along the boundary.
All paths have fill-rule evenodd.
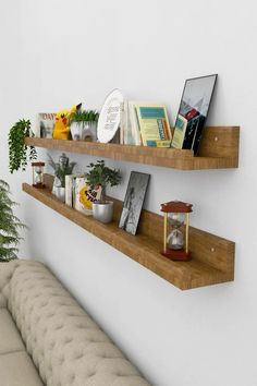
<path id="1" fill-rule="evenodd" d="M 156 386 L 256 385 L 256 32 L 250 0 L 0 4 L 0 165 L 30 227 L 21 256 L 48 264 Z M 22 193 L 30 168 L 8 171 L 8 132 L 20 118 L 79 101 L 100 108 L 119 87 L 166 102 L 174 123 L 185 79 L 209 73 L 219 74 L 209 123 L 242 128 L 238 169 L 107 164 L 123 172 L 118 198 L 131 170 L 149 172 L 148 209 L 191 202 L 193 226 L 235 241 L 232 284 L 182 292 Z M 70 157 L 82 170 L 97 159 Z"/>

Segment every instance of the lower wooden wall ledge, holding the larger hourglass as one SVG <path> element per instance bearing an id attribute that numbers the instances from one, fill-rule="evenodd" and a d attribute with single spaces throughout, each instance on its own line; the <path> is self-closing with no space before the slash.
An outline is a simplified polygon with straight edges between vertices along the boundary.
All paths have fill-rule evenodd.
<path id="1" fill-rule="evenodd" d="M 23 183 L 23 191 L 182 290 L 234 278 L 235 244 L 232 241 L 191 227 L 192 261 L 172 262 L 160 254 L 162 217 L 157 214 L 143 210 L 138 234 L 131 236 L 118 227 L 120 201 L 113 200 L 114 220 L 105 225 L 61 203 L 50 189 L 39 190 Z"/>

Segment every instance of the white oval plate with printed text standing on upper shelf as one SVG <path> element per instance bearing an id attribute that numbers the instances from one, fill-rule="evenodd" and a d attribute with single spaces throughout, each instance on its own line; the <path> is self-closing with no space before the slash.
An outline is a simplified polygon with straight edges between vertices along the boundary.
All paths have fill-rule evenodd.
<path id="1" fill-rule="evenodd" d="M 107 96 L 97 124 L 97 138 L 99 142 L 108 143 L 115 135 L 121 121 L 121 105 L 123 101 L 123 95 L 118 88 Z"/>

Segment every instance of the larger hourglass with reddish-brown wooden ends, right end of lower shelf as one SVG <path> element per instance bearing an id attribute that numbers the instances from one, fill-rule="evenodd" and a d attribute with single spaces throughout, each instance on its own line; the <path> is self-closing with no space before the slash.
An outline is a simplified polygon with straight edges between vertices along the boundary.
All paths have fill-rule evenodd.
<path id="1" fill-rule="evenodd" d="M 161 212 L 164 214 L 162 255 L 170 260 L 184 262 L 191 260 L 188 231 L 192 206 L 181 201 L 161 204 Z"/>

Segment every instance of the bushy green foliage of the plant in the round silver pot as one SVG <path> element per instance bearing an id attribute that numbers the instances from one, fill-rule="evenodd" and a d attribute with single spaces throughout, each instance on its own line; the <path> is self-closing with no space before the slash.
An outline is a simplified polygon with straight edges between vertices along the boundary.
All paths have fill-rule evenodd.
<path id="1" fill-rule="evenodd" d="M 90 162 L 87 167 L 90 168 L 86 173 L 87 183 L 91 186 L 101 185 L 100 201 L 103 202 L 107 186 L 117 186 L 121 182 L 120 170 L 108 168 L 103 160 L 97 160 L 96 164 Z"/>

